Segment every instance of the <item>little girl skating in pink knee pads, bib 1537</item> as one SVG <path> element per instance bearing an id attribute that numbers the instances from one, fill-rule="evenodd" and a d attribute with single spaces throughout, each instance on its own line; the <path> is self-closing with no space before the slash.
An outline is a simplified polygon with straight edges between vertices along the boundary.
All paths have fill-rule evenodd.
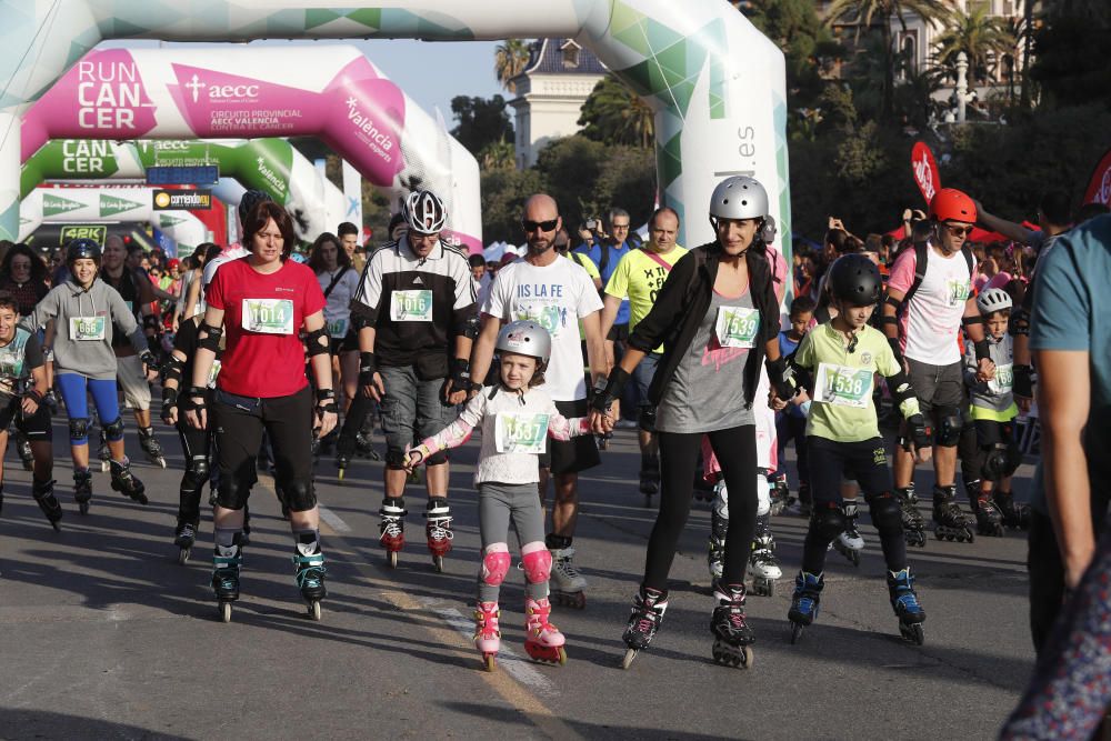
<path id="1" fill-rule="evenodd" d="M 543 327 L 532 321 L 506 324 L 494 348 L 499 353 L 499 383 L 480 391 L 459 419 L 410 450 L 406 468 L 411 471 L 430 455 L 463 444 L 474 428 L 481 427 L 482 448 L 474 483 L 479 489 L 482 567 L 474 643 L 487 670 L 493 671 L 501 638 L 498 592 L 512 562 L 508 543 L 512 519 L 528 582 L 524 650 L 536 661 L 562 664 L 567 661 L 563 634 L 548 622 L 552 557 L 544 544 L 544 518 L 537 497 L 537 455 L 544 451 L 549 437 L 570 440 L 590 434 L 590 422 L 585 417 L 564 418 L 548 392 L 537 388 L 544 382 L 543 371 L 551 354 L 551 336 Z"/>

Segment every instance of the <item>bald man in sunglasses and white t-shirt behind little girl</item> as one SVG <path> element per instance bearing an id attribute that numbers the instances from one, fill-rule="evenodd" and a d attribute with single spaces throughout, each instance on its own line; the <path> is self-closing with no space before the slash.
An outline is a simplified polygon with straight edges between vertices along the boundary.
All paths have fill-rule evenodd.
<path id="1" fill-rule="evenodd" d="M 602 301 L 587 271 L 571 260 L 560 259 L 554 249 L 562 219 L 550 196 L 538 193 L 526 202 L 521 226 L 529 251 L 523 259 L 502 267 L 490 283 L 482 303 L 482 331 L 471 357 L 471 378 L 487 377 L 502 324 L 531 319 L 552 338 L 544 390 L 551 394 L 561 414 L 568 419 L 584 417 L 589 409 L 582 372 L 583 339 L 593 377 L 604 378 L 607 370 L 600 326 Z M 587 582 L 571 562 L 574 554 L 571 541 L 579 512 L 579 471 L 601 461 L 590 435 L 569 442 L 549 441 L 548 444 L 549 452 L 541 457 L 540 491 L 543 499 L 550 472 L 556 480 L 552 529 L 547 537 L 553 561 L 552 593 L 564 604 L 582 608 Z"/>

